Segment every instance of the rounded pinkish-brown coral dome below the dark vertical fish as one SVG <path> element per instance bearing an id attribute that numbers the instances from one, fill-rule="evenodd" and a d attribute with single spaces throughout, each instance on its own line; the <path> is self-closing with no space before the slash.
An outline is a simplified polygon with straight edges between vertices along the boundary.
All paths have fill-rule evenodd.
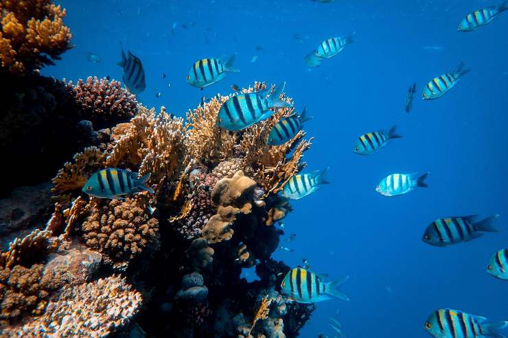
<path id="1" fill-rule="evenodd" d="M 78 80 L 76 86 L 69 82 L 67 88 L 76 98 L 80 118 L 91 121 L 96 130 L 127 121 L 137 113 L 136 96 L 118 81 L 88 77 L 86 82 Z"/>

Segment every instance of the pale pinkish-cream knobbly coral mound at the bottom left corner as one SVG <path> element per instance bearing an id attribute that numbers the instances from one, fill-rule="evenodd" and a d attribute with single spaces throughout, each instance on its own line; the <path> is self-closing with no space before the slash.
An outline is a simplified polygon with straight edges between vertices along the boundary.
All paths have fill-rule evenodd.
<path id="1" fill-rule="evenodd" d="M 40 317 L 5 330 L 0 337 L 106 337 L 139 311 L 141 294 L 130 289 L 119 276 L 67 285 Z"/>

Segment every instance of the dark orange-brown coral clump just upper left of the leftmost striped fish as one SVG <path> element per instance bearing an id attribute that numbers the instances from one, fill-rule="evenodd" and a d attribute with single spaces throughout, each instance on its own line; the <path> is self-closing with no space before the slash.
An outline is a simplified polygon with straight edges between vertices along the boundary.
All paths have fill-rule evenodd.
<path id="1" fill-rule="evenodd" d="M 97 147 L 87 147 L 82 153 L 74 155 L 74 163 L 67 162 L 53 179 L 53 193 L 65 193 L 81 189 L 86 180 L 100 167 L 104 154 Z"/>

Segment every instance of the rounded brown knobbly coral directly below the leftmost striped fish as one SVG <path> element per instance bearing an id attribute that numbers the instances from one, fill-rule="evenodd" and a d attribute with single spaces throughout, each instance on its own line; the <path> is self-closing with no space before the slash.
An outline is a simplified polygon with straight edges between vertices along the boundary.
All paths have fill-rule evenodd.
<path id="1" fill-rule="evenodd" d="M 106 253 L 114 262 L 130 260 L 147 247 L 159 245 L 159 221 L 148 215 L 148 202 L 142 195 L 95 204 L 81 230 L 89 248 Z"/>

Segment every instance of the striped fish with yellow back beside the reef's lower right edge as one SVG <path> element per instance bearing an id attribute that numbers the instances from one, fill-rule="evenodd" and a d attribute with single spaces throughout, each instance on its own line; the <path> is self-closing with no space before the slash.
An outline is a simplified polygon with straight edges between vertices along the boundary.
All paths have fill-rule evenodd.
<path id="1" fill-rule="evenodd" d="M 323 282 L 326 275 L 314 274 L 303 267 L 295 267 L 281 282 L 281 291 L 284 295 L 299 303 L 315 303 L 331 299 L 330 296 L 349 301 L 347 295 L 338 290 L 349 276 L 344 276 L 333 282 Z"/>

